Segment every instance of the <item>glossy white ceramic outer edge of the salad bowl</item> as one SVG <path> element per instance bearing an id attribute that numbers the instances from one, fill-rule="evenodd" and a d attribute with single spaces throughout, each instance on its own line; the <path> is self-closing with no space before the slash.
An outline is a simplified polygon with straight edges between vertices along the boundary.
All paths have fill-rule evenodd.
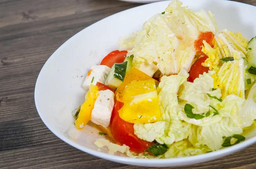
<path id="1" fill-rule="evenodd" d="M 161 2 L 156 2 L 156 3 L 161 3 Z M 230 3 L 240 3 L 240 2 L 230 1 Z M 146 6 L 146 5 L 147 4 L 145 4 L 143 6 Z M 245 5 L 251 6 L 249 4 L 245 4 Z M 134 7 L 134 8 L 138 8 L 138 7 L 140 7 L 140 6 L 137 6 L 137 7 Z M 129 10 L 129 9 L 127 9 L 127 10 Z M 124 11 L 127 11 L 127 10 L 124 10 Z M 116 14 L 122 13 L 124 11 L 118 12 Z M 113 15 L 111 15 L 109 17 L 105 17 L 102 20 L 105 20 L 107 18 L 113 17 L 116 14 L 113 14 Z M 96 23 L 98 23 L 98 22 L 100 22 L 102 20 L 99 20 Z M 93 24 L 95 24 L 95 23 L 93 23 Z M 88 26 L 87 28 L 89 28 L 90 26 Z M 84 31 L 87 28 L 84 28 L 81 31 Z M 73 35 L 73 37 L 79 36 L 79 33 L 81 31 L 79 31 L 77 34 Z M 72 37 L 70 37 L 70 39 L 71 38 Z M 58 50 L 61 50 L 66 45 L 68 45 L 68 43 L 70 42 L 70 39 L 68 39 L 66 42 L 64 42 L 55 52 L 57 52 Z M 52 55 L 54 55 L 55 52 Z M 49 60 L 51 59 L 52 55 L 49 57 L 47 62 L 44 64 L 44 66 L 42 67 L 41 71 L 44 69 L 44 67 L 47 66 L 47 64 L 49 63 Z M 41 77 L 41 71 L 40 71 L 40 73 L 38 75 L 38 79 Z M 230 146 L 230 147 L 225 148 L 225 149 L 220 149 L 218 151 L 209 152 L 209 153 L 202 154 L 202 155 L 194 155 L 194 156 L 182 157 L 182 158 L 139 159 L 139 158 L 129 158 L 129 157 L 116 156 L 116 155 L 109 155 L 109 154 L 106 154 L 106 153 L 103 153 L 103 152 L 99 152 L 99 151 L 96 151 L 96 150 L 89 149 L 89 148 L 86 148 L 84 146 L 81 146 L 81 145 L 75 143 L 74 141 L 70 141 L 64 135 L 61 135 L 58 132 L 55 132 L 54 130 L 52 130 L 52 128 L 47 124 L 47 122 L 44 120 L 44 118 L 42 118 L 41 111 L 37 107 L 38 101 L 36 99 L 37 98 L 36 91 L 37 91 L 38 79 L 37 79 L 36 84 L 35 84 L 35 94 L 34 94 L 35 106 L 36 106 L 36 109 L 38 111 L 38 114 L 39 114 L 40 118 L 42 119 L 44 124 L 48 127 L 48 129 L 53 134 L 55 134 L 58 138 L 60 138 L 62 141 L 66 142 L 67 144 L 70 144 L 71 146 L 73 146 L 73 147 L 75 147 L 75 148 L 77 148 L 77 149 L 79 149 L 79 150 L 81 150 L 83 152 L 86 152 L 86 153 L 88 153 L 90 155 L 94 155 L 96 157 L 103 158 L 105 160 L 114 161 L 114 162 L 123 163 L 123 164 L 128 164 L 128 165 L 133 163 L 133 165 L 137 165 L 137 166 L 150 166 L 150 167 L 184 166 L 184 165 L 190 165 L 190 164 L 195 164 L 195 163 L 203 163 L 203 162 L 215 160 L 217 158 L 221 158 L 221 157 L 224 157 L 224 156 L 229 155 L 231 153 L 237 152 L 237 151 L 239 151 L 241 149 L 244 149 L 244 148 L 246 148 L 246 147 L 248 147 L 248 146 L 250 146 L 250 145 L 252 145 L 252 144 L 254 144 L 256 142 L 256 136 L 254 136 L 253 138 L 250 138 L 250 139 L 245 140 L 245 141 L 243 141 L 243 142 L 241 142 L 239 144 L 236 144 L 234 146 Z M 184 163 L 184 161 L 186 161 L 186 163 Z"/>

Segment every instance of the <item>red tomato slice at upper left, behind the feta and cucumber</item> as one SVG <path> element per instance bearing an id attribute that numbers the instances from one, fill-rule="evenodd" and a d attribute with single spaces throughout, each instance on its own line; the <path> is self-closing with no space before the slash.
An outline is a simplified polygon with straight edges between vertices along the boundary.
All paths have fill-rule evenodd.
<path id="1" fill-rule="evenodd" d="M 122 63 L 125 60 L 125 56 L 128 52 L 127 51 L 112 51 L 109 53 L 105 58 L 102 60 L 100 65 L 106 65 L 109 68 L 112 68 L 114 63 Z"/>

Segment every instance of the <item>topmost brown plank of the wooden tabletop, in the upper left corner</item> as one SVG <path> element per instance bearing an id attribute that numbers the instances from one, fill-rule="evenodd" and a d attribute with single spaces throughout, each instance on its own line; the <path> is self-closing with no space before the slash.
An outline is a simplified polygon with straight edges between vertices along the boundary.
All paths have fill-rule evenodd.
<path id="1" fill-rule="evenodd" d="M 0 27 L 106 8 L 118 9 L 126 5 L 129 6 L 129 3 L 116 0 L 2 0 L 0 1 Z M 138 5 L 133 4 L 133 6 Z"/>

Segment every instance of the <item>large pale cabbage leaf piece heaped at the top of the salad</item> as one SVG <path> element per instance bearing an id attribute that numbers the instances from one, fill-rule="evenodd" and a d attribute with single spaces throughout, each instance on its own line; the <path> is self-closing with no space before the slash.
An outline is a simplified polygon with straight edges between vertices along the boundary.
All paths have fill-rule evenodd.
<path id="1" fill-rule="evenodd" d="M 142 31 L 125 37 L 119 47 L 131 50 L 127 56 L 134 55 L 133 66 L 144 73 L 141 65 L 151 65 L 148 72 L 154 74 L 157 65 L 163 75 L 177 74 L 183 68 L 189 71 L 195 56 L 194 41 L 201 31 L 218 28 L 211 12 L 201 9 L 194 12 L 182 7 L 179 0 L 172 0 L 166 14 L 156 14 L 143 25 Z M 167 13 L 168 12 L 168 13 Z"/>

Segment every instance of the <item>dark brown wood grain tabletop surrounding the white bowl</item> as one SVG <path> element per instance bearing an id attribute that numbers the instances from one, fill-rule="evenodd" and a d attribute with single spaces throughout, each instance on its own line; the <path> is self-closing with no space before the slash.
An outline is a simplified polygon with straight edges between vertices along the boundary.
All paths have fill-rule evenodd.
<path id="1" fill-rule="evenodd" d="M 256 5 L 256 0 L 237 0 Z M 77 32 L 142 4 L 117 0 L 0 0 L 0 168 L 131 168 L 64 143 L 41 121 L 35 82 L 49 56 Z M 252 21 L 255 22 L 255 21 Z M 256 168 L 256 144 L 186 168 Z"/>

